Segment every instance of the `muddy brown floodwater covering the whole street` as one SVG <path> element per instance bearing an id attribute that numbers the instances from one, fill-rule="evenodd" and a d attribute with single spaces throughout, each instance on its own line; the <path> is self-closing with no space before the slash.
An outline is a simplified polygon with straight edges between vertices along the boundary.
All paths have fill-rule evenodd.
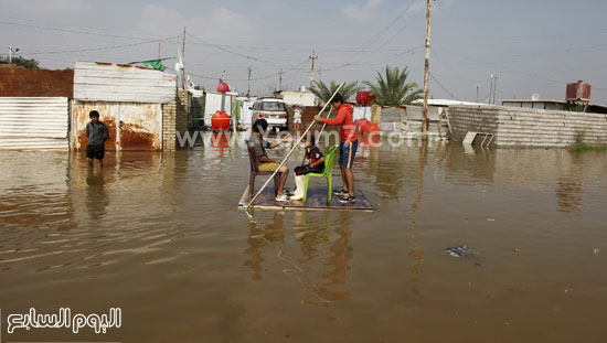
<path id="1" fill-rule="evenodd" d="M 607 341 L 605 153 L 360 149 L 374 213 L 249 218 L 246 150 L 214 146 L 110 153 L 103 170 L 0 152 L 0 340 Z M 477 255 L 447 255 L 459 245 Z M 116 307 L 105 334 L 6 330 L 30 308 Z"/>

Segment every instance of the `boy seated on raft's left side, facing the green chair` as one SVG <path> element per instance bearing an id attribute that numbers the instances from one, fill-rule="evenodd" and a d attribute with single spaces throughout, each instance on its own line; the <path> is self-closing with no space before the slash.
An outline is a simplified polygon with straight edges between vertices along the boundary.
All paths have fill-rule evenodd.
<path id="1" fill-rule="evenodd" d="M 266 149 L 274 149 L 285 142 L 292 141 L 292 137 L 287 136 L 283 140 L 268 143 L 264 140 L 262 132 L 266 132 L 268 129 L 268 122 L 266 119 L 257 119 L 253 124 L 253 135 L 248 139 L 248 144 L 255 150 L 255 158 L 257 158 L 257 169 L 260 172 L 274 172 L 280 165 L 280 161 L 273 160 L 267 157 Z M 285 194 L 285 183 L 287 182 L 287 176 L 289 174 L 289 169 L 287 165 L 283 165 L 278 171 L 280 173 L 280 183 L 278 190 L 276 190 L 276 201 L 285 202 L 289 201 L 289 197 Z"/>

